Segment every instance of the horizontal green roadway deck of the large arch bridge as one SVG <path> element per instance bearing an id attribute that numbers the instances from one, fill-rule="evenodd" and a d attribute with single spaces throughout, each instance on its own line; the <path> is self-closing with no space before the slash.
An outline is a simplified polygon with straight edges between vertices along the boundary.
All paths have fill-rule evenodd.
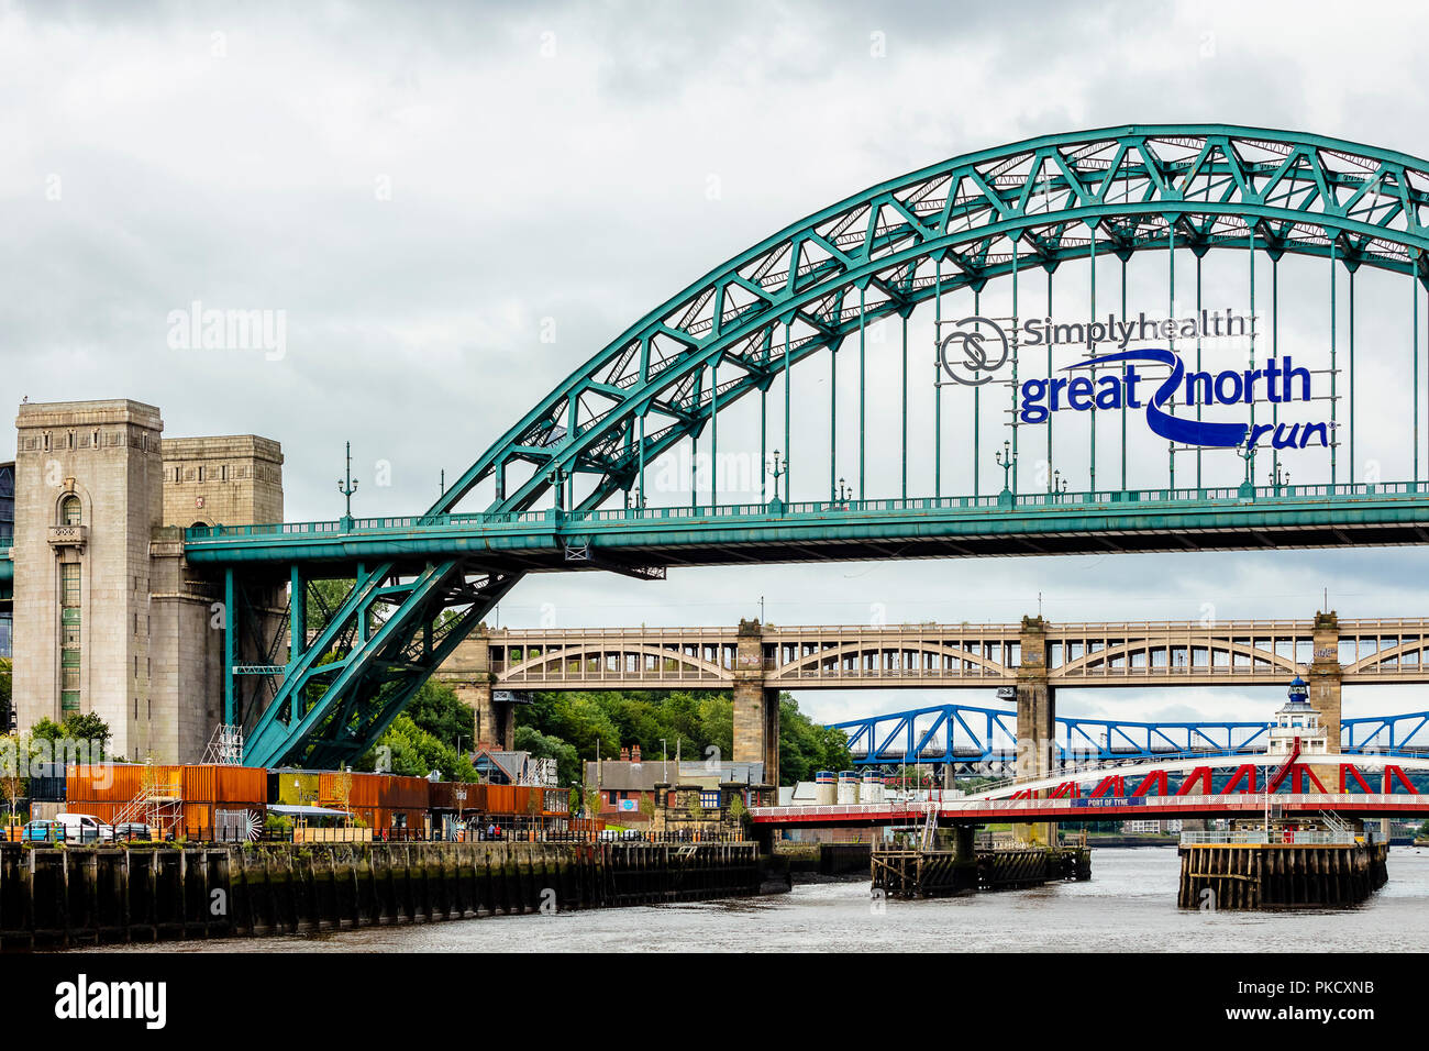
<path id="1" fill-rule="evenodd" d="M 1399 482 L 394 516 L 197 528 L 184 546 L 200 565 L 470 556 L 552 571 L 616 568 L 592 551 L 667 566 L 1425 542 L 1429 483 Z"/>

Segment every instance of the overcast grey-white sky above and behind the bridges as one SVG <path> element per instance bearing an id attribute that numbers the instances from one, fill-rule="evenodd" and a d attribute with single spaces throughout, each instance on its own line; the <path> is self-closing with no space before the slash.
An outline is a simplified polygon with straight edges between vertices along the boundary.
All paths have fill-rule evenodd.
<path id="1" fill-rule="evenodd" d="M 1177 120 L 1429 156 L 1429 16 L 1375 10 L 0 0 L 0 399 L 133 398 L 160 406 L 171 436 L 277 439 L 290 520 L 340 513 L 334 479 L 352 440 L 357 513 L 410 513 L 437 495 L 442 469 L 464 469 L 653 305 L 919 166 L 1042 133 Z M 1243 272 L 1243 256 L 1228 266 Z M 1285 293 L 1286 330 L 1312 353 L 1325 275 L 1300 276 Z M 1210 276 L 1222 302 L 1243 306 L 1235 280 Z M 1386 319 L 1409 293 L 1372 285 L 1365 295 L 1383 307 L 1366 312 L 1375 353 L 1362 382 L 1386 419 L 1366 430 L 1362 459 L 1408 478 L 1403 440 L 1392 442 L 1413 410 L 1395 382 L 1408 336 Z M 194 302 L 282 312 L 282 353 L 176 347 L 171 317 Z M 930 362 L 926 319 L 910 347 Z M 912 426 L 926 446 L 920 375 Z M 810 406 L 826 402 L 823 382 L 810 373 L 800 390 Z M 895 396 L 879 386 L 875 413 Z M 796 422 L 796 455 L 800 440 L 826 440 L 815 433 L 826 422 L 812 409 Z M 13 443 L 0 436 L 0 459 Z M 876 438 L 875 462 L 889 453 L 896 445 Z M 926 463 L 913 469 L 910 488 L 929 492 Z M 966 489 L 960 469 L 945 492 Z M 1315 480 L 1316 469 L 1292 473 Z M 996 468 L 982 470 L 986 486 Z M 1385 549 L 709 569 L 663 583 L 542 576 L 500 622 L 532 625 L 546 609 L 563 626 L 733 623 L 760 598 L 782 623 L 867 623 L 875 609 L 892 622 L 1010 622 L 1039 595 L 1059 621 L 1306 618 L 1322 589 L 1342 616 L 1418 616 L 1426 569 L 1425 552 Z M 1079 692 L 1063 709 L 1249 718 L 1276 696 Z M 830 719 L 927 701 L 800 698 Z M 1378 688 L 1346 706 L 1429 705 Z"/>

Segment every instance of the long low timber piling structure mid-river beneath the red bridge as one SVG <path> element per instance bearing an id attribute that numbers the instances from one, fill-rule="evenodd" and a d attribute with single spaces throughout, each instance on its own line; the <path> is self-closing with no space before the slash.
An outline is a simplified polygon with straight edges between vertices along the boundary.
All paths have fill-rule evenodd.
<path id="1" fill-rule="evenodd" d="M 1085 847 L 1020 847 L 969 857 L 957 851 L 875 848 L 870 875 L 873 889 L 890 897 L 936 898 L 1090 879 L 1092 852 Z"/>

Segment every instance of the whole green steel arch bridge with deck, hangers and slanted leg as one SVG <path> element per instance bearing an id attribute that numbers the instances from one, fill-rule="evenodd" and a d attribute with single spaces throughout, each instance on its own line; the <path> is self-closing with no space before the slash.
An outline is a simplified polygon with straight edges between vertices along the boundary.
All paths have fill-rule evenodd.
<path id="1" fill-rule="evenodd" d="M 650 310 L 554 386 L 426 512 L 187 531 L 189 562 L 224 582 L 224 718 L 244 725 L 252 764 L 350 759 L 370 748 L 530 572 L 607 569 L 657 578 L 669 566 L 749 562 L 1422 543 L 1429 539 L 1429 485 L 1419 469 L 1426 204 L 1423 160 L 1220 124 L 1045 136 L 873 186 L 775 233 Z M 1050 349 L 1035 346 L 1027 322 L 1043 319 L 1045 310 L 1050 325 L 1059 313 L 1052 309 L 1059 267 L 1085 267 L 1085 300 L 1077 285 L 1080 302 L 1060 313 L 1082 323 L 1085 345 L 1070 349 L 1086 367 L 1105 350 L 1092 319 L 1107 305 L 1130 316 L 1129 262 L 1149 259 L 1160 272 L 1166 297 L 1155 306 L 1162 317 L 1190 309 L 1195 296 L 1192 316 L 1208 319 L 1202 259 L 1230 250 L 1249 260 L 1249 315 L 1258 316 L 1258 295 L 1262 307 L 1269 303 L 1269 329 L 1252 326 L 1249 370 L 1258 353 L 1262 363 L 1289 360 L 1280 357 L 1282 259 L 1323 266 L 1329 359 L 1315 370 L 1316 383 L 1328 388 L 1315 399 L 1329 412 L 1323 449 L 1293 448 L 1270 433 L 1289 423 L 1283 400 L 1249 400 L 1240 410 L 1249 418 L 1236 432 L 1242 440 L 1219 442 L 1220 452 L 1233 446 L 1245 460 L 1243 476 L 1208 485 L 1203 468 L 1215 449 L 1172 436 L 1155 439 L 1165 449 L 1165 470 L 1155 468 L 1147 482 L 1145 463 L 1133 465 L 1143 475 L 1133 485 L 1127 453 L 1145 459 L 1152 410 L 1143 423 L 1130 383 L 1120 388 L 1119 405 L 1092 403 L 1090 425 L 1073 429 L 1075 455 L 1063 452 L 1065 436 L 1062 446 L 1053 442 L 1050 420 L 1033 426 L 1026 412 L 1019 416 L 1019 396 L 1029 398 L 1019 378 L 1040 370 L 1050 386 L 1056 375 Z M 1107 295 L 1105 277 L 1097 287 L 1097 270 L 1112 260 L 1120 265 L 1120 282 Z M 1403 370 L 1413 395 L 1413 419 L 1405 413 L 1395 453 L 1406 466 L 1395 480 L 1353 478 L 1356 408 L 1385 415 L 1378 399 L 1356 405 L 1355 396 L 1356 275 L 1366 267 L 1402 287 L 1392 293 L 1403 309 L 1402 346 L 1372 352 L 1376 363 Z M 985 307 L 995 293 L 1005 305 L 1000 319 Z M 923 305 L 932 307 L 937 333 L 932 483 L 915 479 L 910 489 L 916 456 L 907 323 Z M 869 327 L 879 322 L 902 329 L 896 357 L 877 350 L 883 366 L 892 357 L 900 367 L 902 419 L 893 422 L 902 425 L 900 465 L 870 465 L 867 453 Z M 990 343 L 996 330 L 1005 336 L 1000 359 Z M 1179 420 L 1172 425 L 1179 435 L 1192 420 L 1216 428 L 1203 418 L 1209 405 L 1179 396 L 1182 372 L 1173 372 L 1185 362 L 1199 373 L 1205 342 L 1209 333 L 1198 329 L 1190 337 L 1172 325 L 1165 339 L 1153 340 L 1169 356 L 1142 365 L 1143 373 L 1165 378 L 1147 400 L 1160 418 Z M 837 423 L 837 366 L 850 350 L 857 355 L 852 443 L 853 428 Z M 799 376 L 813 375 L 815 359 L 829 369 L 827 405 L 822 393 L 793 393 L 795 366 L 803 366 Z M 1135 366 L 1103 357 L 1100 367 L 1115 386 Z M 1092 363 L 1093 382 L 1096 375 Z M 1208 388 L 1210 382 L 1208 376 Z M 1253 389 L 1249 372 L 1245 386 Z M 702 493 L 692 478 L 687 503 L 649 499 L 656 463 L 682 449 L 703 448 L 713 462 L 727 455 L 720 422 L 746 398 L 757 400 L 757 439 L 746 446 L 757 456 L 757 493 L 727 500 L 717 482 Z M 793 452 L 799 443 L 812 446 L 809 430 L 825 422 L 826 463 L 822 450 Z M 983 448 L 989 422 L 1007 435 L 1002 449 L 992 443 L 992 458 Z M 1065 435 L 1066 425 L 1057 423 Z M 883 416 L 876 426 L 887 430 L 890 420 Z M 727 433 L 729 426 L 726 443 Z M 1260 433 L 1266 442 L 1258 458 Z M 912 436 L 915 452 L 927 438 Z M 970 462 L 969 492 L 945 490 L 959 468 L 945 456 L 949 442 L 960 463 Z M 773 469 L 766 472 L 769 446 Z M 1019 458 L 1042 453 L 1029 486 Z M 1295 485 L 1285 473 L 1292 456 Z M 846 480 L 839 463 L 855 460 Z M 1067 466 L 1065 479 L 1053 463 Z M 796 483 L 823 496 L 825 468 L 827 496 L 792 499 Z M 1322 478 L 1308 482 L 1306 469 Z M 1002 485 L 985 485 L 982 472 Z M 316 579 L 356 583 L 334 606 L 319 609 L 319 629 L 304 631 Z"/>

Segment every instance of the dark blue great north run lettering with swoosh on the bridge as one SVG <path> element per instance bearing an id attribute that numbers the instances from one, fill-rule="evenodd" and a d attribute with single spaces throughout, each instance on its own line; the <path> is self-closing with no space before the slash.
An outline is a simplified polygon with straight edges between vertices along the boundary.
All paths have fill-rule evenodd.
<path id="1" fill-rule="evenodd" d="M 1170 375 L 1147 399 L 1137 385 L 1146 379 L 1132 362 L 1166 365 Z M 1212 423 L 1173 416 L 1165 406 L 1176 398 L 1182 405 L 1252 405 L 1260 400 L 1286 403 L 1310 400 L 1310 370 L 1298 367 L 1289 355 L 1270 359 L 1262 369 L 1226 369 L 1223 372 L 1189 372 L 1180 356 L 1156 347 L 1119 350 L 1092 357 L 1070 369 L 1093 365 L 1126 363 L 1120 376 L 1090 376 L 1029 379 L 1022 383 L 1022 405 L 1017 416 L 1023 423 L 1043 423 L 1053 412 L 1072 409 L 1145 409 L 1146 426 L 1169 442 L 1210 448 L 1255 446 L 1269 435 L 1276 449 L 1303 449 L 1308 445 L 1329 446 L 1329 423 Z M 1263 395 L 1263 398 L 1262 398 Z"/>

